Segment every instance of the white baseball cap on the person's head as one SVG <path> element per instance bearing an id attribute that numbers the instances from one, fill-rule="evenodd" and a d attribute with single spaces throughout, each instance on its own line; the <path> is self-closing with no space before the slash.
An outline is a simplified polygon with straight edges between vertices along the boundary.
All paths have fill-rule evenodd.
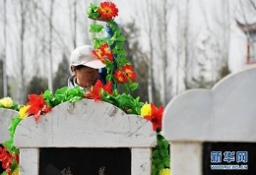
<path id="1" fill-rule="evenodd" d="M 94 48 L 91 45 L 82 45 L 77 47 L 70 55 L 70 65 L 84 65 L 94 69 L 105 67 L 93 53 Z"/>

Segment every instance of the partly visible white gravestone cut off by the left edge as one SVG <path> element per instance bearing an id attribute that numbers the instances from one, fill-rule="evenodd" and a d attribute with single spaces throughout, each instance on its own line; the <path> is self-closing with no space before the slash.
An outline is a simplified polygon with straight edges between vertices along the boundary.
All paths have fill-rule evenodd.
<path id="1" fill-rule="evenodd" d="M 19 116 L 19 113 L 13 109 L 0 108 L 0 145 L 2 146 L 7 140 L 9 140 L 10 135 L 8 128 L 12 123 L 12 119 Z M 1 162 L 0 162 L 1 163 Z M 4 171 L 2 166 L 0 166 L 0 174 Z"/>

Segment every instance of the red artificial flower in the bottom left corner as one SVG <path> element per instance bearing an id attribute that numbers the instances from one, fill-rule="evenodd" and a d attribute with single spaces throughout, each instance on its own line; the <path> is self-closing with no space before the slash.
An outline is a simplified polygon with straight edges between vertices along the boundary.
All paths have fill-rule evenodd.
<path id="1" fill-rule="evenodd" d="M 0 161 L 2 161 L 2 167 L 6 169 L 7 174 L 11 174 L 11 165 L 13 163 L 12 154 L 0 146 Z"/>

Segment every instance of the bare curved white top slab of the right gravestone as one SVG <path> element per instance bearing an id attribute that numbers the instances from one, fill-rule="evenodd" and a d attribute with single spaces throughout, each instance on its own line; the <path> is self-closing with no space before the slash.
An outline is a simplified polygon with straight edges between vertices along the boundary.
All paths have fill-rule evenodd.
<path id="1" fill-rule="evenodd" d="M 212 89 L 171 100 L 162 130 L 169 141 L 256 142 L 256 67 L 229 75 Z"/>

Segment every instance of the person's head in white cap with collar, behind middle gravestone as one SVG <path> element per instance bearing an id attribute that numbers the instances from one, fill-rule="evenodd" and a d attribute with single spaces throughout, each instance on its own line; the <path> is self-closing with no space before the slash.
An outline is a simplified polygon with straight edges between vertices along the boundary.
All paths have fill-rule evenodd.
<path id="1" fill-rule="evenodd" d="M 77 47 L 70 55 L 70 69 L 72 76 L 68 79 L 68 87 L 79 86 L 87 90 L 101 80 L 98 69 L 105 67 L 93 53 L 94 48 L 91 45 L 82 45 Z"/>

